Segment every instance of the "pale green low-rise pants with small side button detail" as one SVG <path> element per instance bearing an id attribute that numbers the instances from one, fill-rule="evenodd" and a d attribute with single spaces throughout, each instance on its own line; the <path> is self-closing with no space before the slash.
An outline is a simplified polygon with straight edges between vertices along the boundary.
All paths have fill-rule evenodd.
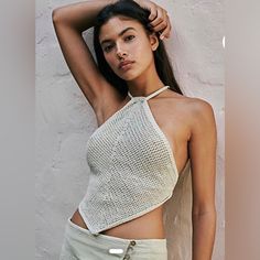
<path id="1" fill-rule="evenodd" d="M 167 260 L 166 239 L 93 235 L 68 218 L 59 260 Z"/>

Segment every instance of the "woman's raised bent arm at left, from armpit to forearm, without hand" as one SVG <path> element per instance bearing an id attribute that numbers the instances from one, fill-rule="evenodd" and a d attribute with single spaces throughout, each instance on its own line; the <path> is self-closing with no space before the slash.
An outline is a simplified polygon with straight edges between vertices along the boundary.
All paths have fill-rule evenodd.
<path id="1" fill-rule="evenodd" d="M 64 58 L 79 88 L 97 115 L 101 113 L 104 98 L 115 102 L 115 100 L 119 100 L 119 94 L 99 72 L 82 33 L 94 26 L 94 21 L 101 9 L 116 1 L 78 2 L 59 7 L 52 12 L 54 29 Z"/>

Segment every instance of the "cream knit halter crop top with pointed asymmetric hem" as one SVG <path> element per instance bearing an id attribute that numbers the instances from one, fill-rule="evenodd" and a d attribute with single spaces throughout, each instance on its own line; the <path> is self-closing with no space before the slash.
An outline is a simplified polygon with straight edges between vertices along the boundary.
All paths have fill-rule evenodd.
<path id="1" fill-rule="evenodd" d="M 178 172 L 148 97 L 133 97 L 87 142 L 89 184 L 78 210 L 91 234 L 137 218 L 166 202 Z"/>

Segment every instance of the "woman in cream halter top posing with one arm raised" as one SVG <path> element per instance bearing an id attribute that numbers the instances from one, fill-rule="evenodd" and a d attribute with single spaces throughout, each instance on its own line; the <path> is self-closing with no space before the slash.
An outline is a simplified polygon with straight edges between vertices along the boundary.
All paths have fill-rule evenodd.
<path id="1" fill-rule="evenodd" d="M 163 205 L 191 159 L 193 260 L 212 258 L 216 124 L 212 106 L 182 95 L 162 40 L 167 12 L 148 0 L 55 9 L 67 65 L 93 107 L 89 186 L 68 219 L 61 259 L 167 259 Z M 96 65 L 82 32 L 94 26 Z M 173 155 L 174 154 L 174 155 Z"/>

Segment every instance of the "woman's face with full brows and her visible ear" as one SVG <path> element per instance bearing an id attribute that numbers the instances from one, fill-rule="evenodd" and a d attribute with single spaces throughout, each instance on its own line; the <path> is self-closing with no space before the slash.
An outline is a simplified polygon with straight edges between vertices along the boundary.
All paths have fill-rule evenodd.
<path id="1" fill-rule="evenodd" d="M 154 63 L 156 36 L 148 36 L 142 24 L 130 18 L 117 15 L 109 19 L 100 29 L 99 42 L 107 63 L 124 80 L 139 77 Z M 123 61 L 131 63 L 120 66 Z"/>

